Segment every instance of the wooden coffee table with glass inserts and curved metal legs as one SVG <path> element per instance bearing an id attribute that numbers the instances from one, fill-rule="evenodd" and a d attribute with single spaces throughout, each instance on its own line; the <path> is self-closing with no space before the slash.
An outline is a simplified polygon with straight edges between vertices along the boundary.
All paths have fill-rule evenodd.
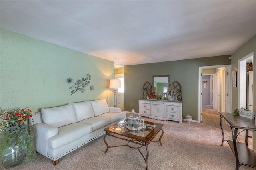
<path id="1" fill-rule="evenodd" d="M 130 148 L 138 149 L 140 154 L 145 160 L 146 169 L 148 170 L 148 155 L 149 155 L 148 145 L 150 144 L 150 142 L 159 142 L 160 145 L 162 146 L 161 138 L 164 134 L 164 130 L 162 130 L 162 127 L 164 125 L 161 123 L 153 123 L 153 122 L 146 122 L 146 121 L 144 121 L 144 124 L 146 125 L 146 128 L 142 130 L 136 130 L 136 131 L 128 130 L 128 128 L 126 128 L 126 125 L 127 125 L 127 119 L 126 119 L 126 120 L 120 121 L 115 125 L 105 128 L 104 130 L 106 131 L 106 134 L 104 135 L 104 138 L 103 138 L 105 144 L 107 145 L 107 149 L 105 153 L 108 152 L 108 148 L 118 147 L 118 146 L 108 146 L 108 143 L 106 142 L 106 136 L 112 136 L 114 138 L 126 140 L 128 142 L 127 144 L 119 145 L 119 146 L 129 146 Z M 158 132 L 160 132 L 160 130 L 162 131 L 162 134 L 159 140 L 152 141 L 154 137 L 158 134 Z M 129 145 L 130 143 L 138 144 L 140 146 L 134 147 Z M 144 157 L 144 155 L 140 151 L 140 148 L 142 146 L 146 147 L 146 157 Z"/>

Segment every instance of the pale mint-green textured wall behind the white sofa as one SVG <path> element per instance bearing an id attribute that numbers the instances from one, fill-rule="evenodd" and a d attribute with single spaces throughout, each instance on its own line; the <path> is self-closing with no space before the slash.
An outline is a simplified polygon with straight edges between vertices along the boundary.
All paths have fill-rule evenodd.
<path id="1" fill-rule="evenodd" d="M 91 75 L 84 93 L 70 95 L 75 81 Z M 73 83 L 66 79 L 71 77 Z M 113 106 L 109 80 L 114 62 L 1 29 L 0 107 L 54 107 L 77 101 L 106 99 Z M 90 86 L 94 91 L 90 91 Z"/>

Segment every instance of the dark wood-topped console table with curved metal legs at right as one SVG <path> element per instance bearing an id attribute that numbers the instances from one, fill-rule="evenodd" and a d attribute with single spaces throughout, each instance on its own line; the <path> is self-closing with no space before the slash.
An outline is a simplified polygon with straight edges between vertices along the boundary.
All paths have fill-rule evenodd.
<path id="1" fill-rule="evenodd" d="M 222 128 L 222 118 L 224 118 L 231 127 L 233 141 L 227 140 L 230 148 L 236 156 L 236 170 L 239 169 L 240 165 L 250 166 L 256 168 L 256 156 L 248 148 L 248 130 L 256 131 L 255 120 L 248 119 L 245 117 L 236 116 L 233 113 L 220 112 L 220 128 L 222 131 L 222 144 L 224 142 L 224 132 Z M 233 129 L 234 128 L 234 134 Z M 238 129 L 246 130 L 245 143 L 236 142 Z"/>

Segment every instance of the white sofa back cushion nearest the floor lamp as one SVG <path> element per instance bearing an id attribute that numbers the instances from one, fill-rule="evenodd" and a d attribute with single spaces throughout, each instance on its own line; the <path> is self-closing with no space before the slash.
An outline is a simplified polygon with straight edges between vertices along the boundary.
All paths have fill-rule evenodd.
<path id="1" fill-rule="evenodd" d="M 92 100 L 91 103 L 95 116 L 109 112 L 108 103 L 105 99 Z"/>

